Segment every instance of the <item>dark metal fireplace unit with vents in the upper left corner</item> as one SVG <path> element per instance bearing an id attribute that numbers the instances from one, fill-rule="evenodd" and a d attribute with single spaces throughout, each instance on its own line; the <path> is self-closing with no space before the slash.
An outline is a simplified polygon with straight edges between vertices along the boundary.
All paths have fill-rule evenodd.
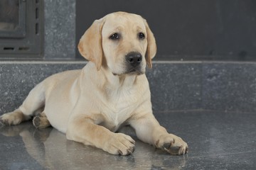
<path id="1" fill-rule="evenodd" d="M 0 1 L 0 60 L 43 57 L 43 0 Z"/>

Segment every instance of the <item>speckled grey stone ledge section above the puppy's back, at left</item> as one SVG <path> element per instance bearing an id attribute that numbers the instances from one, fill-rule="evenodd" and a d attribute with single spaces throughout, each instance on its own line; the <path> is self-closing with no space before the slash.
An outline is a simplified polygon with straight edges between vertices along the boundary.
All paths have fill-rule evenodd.
<path id="1" fill-rule="evenodd" d="M 6 63 L 6 62 L 5 62 Z M 85 62 L 0 62 L 0 115 L 13 111 L 40 81 L 57 72 L 80 69 Z"/>

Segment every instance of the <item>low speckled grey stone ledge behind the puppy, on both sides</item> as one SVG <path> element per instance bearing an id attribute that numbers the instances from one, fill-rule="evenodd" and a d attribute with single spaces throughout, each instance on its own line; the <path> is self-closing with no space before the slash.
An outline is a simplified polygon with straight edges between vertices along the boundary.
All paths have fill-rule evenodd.
<path id="1" fill-rule="evenodd" d="M 86 62 L 0 62 L 0 114 L 17 108 L 51 74 Z M 154 62 L 147 70 L 154 111 L 256 111 L 256 63 Z"/>

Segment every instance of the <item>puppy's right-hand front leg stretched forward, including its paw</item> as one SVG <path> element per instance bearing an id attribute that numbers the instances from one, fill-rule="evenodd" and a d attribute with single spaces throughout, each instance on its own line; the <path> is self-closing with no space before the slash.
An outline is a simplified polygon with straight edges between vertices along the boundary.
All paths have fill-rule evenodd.
<path id="1" fill-rule="evenodd" d="M 143 142 L 163 149 L 170 154 L 180 155 L 188 152 L 188 145 L 181 137 L 170 134 L 154 118 L 152 113 L 140 115 L 130 120 L 130 125 L 136 131 L 137 137 Z"/>

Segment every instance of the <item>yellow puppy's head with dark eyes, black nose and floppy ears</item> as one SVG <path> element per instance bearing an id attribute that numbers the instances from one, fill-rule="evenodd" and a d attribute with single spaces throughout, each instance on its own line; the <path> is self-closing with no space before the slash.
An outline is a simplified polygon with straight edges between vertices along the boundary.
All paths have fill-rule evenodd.
<path id="1" fill-rule="evenodd" d="M 144 74 L 156 55 L 156 41 L 146 20 L 133 13 L 110 13 L 96 20 L 80 39 L 78 50 L 97 70 Z"/>

